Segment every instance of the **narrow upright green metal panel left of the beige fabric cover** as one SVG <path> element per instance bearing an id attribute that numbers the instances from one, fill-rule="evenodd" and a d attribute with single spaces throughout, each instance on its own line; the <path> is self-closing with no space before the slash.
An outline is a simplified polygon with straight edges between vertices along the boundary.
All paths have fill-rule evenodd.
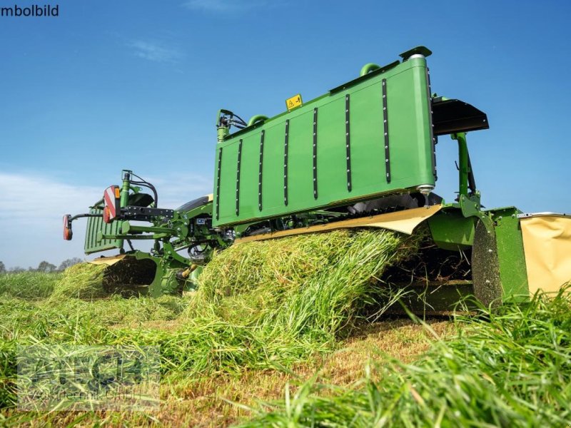
<path id="1" fill-rule="evenodd" d="M 504 300 L 527 300 L 527 270 L 523 250 L 522 230 L 517 208 L 491 210 L 495 223 L 497 258 Z"/>

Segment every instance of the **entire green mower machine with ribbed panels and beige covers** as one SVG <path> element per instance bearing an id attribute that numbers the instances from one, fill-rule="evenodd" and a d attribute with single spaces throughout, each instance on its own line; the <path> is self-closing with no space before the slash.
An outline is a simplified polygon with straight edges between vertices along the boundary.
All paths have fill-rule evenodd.
<path id="1" fill-rule="evenodd" d="M 399 282 L 440 310 L 461 295 L 489 305 L 559 290 L 571 280 L 571 216 L 482 209 L 467 133 L 487 129 L 487 116 L 432 94 L 430 54 L 419 46 L 385 66 L 368 63 L 323 96 L 290 98 L 272 118 L 246 122 L 219 111 L 213 195 L 159 208 L 154 186 L 123 170 L 121 185 L 108 187 L 89 213 L 64 216 L 64 238 L 71 240 L 74 220 L 88 218 L 85 253 L 118 250 L 94 263 L 123 265 L 151 296 L 195 287 L 213 251 L 229 245 L 357 227 L 428 230 L 419 257 L 438 269 Z M 444 136 L 458 144 L 452 202 L 434 193 L 435 145 Z M 150 240 L 151 249 L 135 250 L 133 240 Z"/>

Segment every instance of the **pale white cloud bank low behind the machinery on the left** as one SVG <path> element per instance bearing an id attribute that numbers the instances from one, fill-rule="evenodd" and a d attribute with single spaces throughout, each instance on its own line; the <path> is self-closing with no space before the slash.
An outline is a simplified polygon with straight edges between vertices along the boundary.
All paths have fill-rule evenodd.
<path id="1" fill-rule="evenodd" d="M 164 208 L 176 208 L 212 191 L 211 178 L 201 175 L 146 179 L 156 185 Z M 62 218 L 86 213 L 103 190 L 46 176 L 0 173 L 0 260 L 7 267 L 36 267 L 41 260 L 59 265 L 66 258 L 84 258 L 86 219 L 74 221 L 74 239 L 64 241 Z M 143 242 L 139 248 L 146 250 L 149 245 Z"/>

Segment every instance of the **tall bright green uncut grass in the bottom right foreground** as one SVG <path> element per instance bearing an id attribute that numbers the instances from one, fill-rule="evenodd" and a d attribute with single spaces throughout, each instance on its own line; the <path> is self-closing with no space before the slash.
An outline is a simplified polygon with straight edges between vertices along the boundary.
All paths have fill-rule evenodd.
<path id="1" fill-rule="evenodd" d="M 569 291 L 458 317 L 458 337 L 415 364 L 393 360 L 353 389 L 308 382 L 243 426 L 569 426 Z"/>

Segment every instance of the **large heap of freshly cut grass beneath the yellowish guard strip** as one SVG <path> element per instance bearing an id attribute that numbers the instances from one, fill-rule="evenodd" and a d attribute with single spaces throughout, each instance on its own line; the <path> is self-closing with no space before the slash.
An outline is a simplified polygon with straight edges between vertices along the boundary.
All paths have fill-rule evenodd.
<path id="1" fill-rule="evenodd" d="M 417 245 L 418 238 L 381 230 L 236 245 L 208 264 L 188 315 L 208 306 L 223 320 L 274 334 L 335 335 L 378 291 L 370 280 L 415 253 Z"/>

